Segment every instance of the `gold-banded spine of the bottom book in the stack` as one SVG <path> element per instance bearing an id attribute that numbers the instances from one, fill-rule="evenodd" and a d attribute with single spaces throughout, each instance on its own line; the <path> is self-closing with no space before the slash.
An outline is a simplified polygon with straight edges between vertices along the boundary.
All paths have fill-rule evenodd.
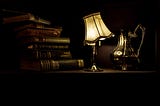
<path id="1" fill-rule="evenodd" d="M 84 67 L 83 59 L 40 60 L 41 71 L 72 70 Z"/>

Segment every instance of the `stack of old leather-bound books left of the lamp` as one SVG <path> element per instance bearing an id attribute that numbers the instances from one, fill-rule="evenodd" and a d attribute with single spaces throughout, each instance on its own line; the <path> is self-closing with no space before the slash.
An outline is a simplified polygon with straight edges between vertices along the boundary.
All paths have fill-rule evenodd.
<path id="1" fill-rule="evenodd" d="M 15 35 L 20 70 L 55 71 L 76 70 L 84 67 L 83 59 L 74 59 L 70 51 L 70 38 L 61 37 L 62 27 L 23 13 L 3 17 Z"/>

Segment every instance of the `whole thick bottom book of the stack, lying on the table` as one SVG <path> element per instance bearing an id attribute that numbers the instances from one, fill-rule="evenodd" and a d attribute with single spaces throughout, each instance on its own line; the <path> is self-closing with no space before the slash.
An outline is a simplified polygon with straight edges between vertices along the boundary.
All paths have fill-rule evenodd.
<path id="1" fill-rule="evenodd" d="M 67 59 L 67 60 L 21 60 L 19 69 L 27 71 L 61 71 L 76 70 L 84 67 L 83 59 Z"/>

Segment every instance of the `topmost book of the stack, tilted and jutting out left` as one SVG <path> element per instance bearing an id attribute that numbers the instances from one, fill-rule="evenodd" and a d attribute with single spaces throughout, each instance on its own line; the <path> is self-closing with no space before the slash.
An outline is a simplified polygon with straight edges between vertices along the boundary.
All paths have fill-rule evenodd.
<path id="1" fill-rule="evenodd" d="M 51 22 L 49 20 L 43 19 L 32 13 L 24 13 L 16 16 L 3 17 L 2 19 L 3 24 L 11 24 L 11 23 L 17 23 L 17 22 L 24 22 L 24 21 L 33 21 L 36 23 L 51 25 Z"/>

